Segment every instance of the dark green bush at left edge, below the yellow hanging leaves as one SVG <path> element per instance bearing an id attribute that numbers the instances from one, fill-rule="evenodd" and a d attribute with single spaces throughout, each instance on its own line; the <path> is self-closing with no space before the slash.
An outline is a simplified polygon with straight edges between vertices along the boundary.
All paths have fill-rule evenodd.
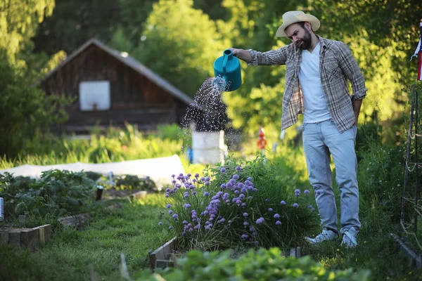
<path id="1" fill-rule="evenodd" d="M 0 155 L 15 157 L 31 152 L 32 142 L 41 141 L 49 125 L 63 122 L 63 107 L 70 102 L 64 96 L 45 96 L 37 86 L 8 63 L 0 48 Z"/>

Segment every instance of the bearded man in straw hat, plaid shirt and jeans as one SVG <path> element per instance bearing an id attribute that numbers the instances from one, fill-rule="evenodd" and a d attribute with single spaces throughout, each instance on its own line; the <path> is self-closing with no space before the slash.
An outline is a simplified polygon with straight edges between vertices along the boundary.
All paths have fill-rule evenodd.
<path id="1" fill-rule="evenodd" d="M 292 126 L 298 121 L 298 114 L 304 114 L 303 149 L 323 227 L 321 234 L 306 239 L 317 244 L 336 240 L 339 235 L 331 154 L 340 188 L 341 244 L 355 247 L 361 224 L 354 145 L 367 89 L 347 45 L 319 37 L 314 33 L 319 27 L 320 22 L 313 15 L 289 11 L 283 15 L 276 37 L 288 37 L 292 44 L 263 53 L 238 48 L 231 51 L 248 65 L 286 65 L 281 129 Z M 352 84 L 352 96 L 347 80 Z"/>

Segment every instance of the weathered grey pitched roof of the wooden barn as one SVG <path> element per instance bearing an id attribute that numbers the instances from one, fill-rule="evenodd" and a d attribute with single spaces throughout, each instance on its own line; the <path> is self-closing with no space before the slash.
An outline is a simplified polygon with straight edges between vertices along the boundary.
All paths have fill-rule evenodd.
<path id="1" fill-rule="evenodd" d="M 135 58 L 132 58 L 127 53 L 114 50 L 113 48 L 106 46 L 106 44 L 103 44 L 101 41 L 99 41 L 98 39 L 94 39 L 94 38 L 89 39 L 85 44 L 83 44 L 80 48 L 78 48 L 77 51 L 68 55 L 68 57 L 65 60 L 63 60 L 62 63 L 60 63 L 56 68 L 51 70 L 51 72 L 46 74 L 46 76 L 44 77 L 44 80 L 51 77 L 51 75 L 53 75 L 55 72 L 60 70 L 60 68 L 63 67 L 63 65 L 66 65 L 68 62 L 70 62 L 70 60 L 75 58 L 77 55 L 79 55 L 79 53 L 82 53 L 85 49 L 87 49 L 91 45 L 95 45 L 98 48 L 101 48 L 103 51 L 105 51 L 106 53 L 109 53 L 113 57 L 117 58 L 117 60 L 120 60 L 122 63 L 124 63 L 128 67 L 131 67 L 136 72 L 139 72 L 139 74 L 142 74 L 143 76 L 145 76 L 148 79 L 150 79 L 151 81 L 153 81 L 155 84 L 160 86 L 162 89 L 165 89 L 168 93 L 171 93 L 176 98 L 179 98 L 180 100 L 182 100 L 187 105 L 193 103 L 193 99 L 190 96 L 186 95 L 186 93 L 177 89 L 175 86 L 170 84 L 167 80 L 160 77 L 160 75 L 156 74 L 155 72 L 150 70 L 148 67 L 146 67 L 142 63 L 139 63 L 139 61 L 136 60 Z"/>

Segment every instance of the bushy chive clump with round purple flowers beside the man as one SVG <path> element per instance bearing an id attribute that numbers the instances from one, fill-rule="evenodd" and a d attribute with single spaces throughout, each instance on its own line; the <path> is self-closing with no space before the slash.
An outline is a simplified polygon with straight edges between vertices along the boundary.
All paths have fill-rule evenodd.
<path id="1" fill-rule="evenodd" d="M 293 190 L 263 157 L 198 174 L 174 176 L 167 188 L 169 228 L 182 249 L 290 247 L 317 225 L 309 190 Z"/>

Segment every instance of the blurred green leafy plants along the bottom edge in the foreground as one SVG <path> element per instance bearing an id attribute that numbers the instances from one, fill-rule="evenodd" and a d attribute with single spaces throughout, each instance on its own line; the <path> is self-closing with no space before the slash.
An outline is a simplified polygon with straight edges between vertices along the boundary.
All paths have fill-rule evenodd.
<path id="1" fill-rule="evenodd" d="M 231 251 L 189 251 L 177 260 L 178 268 L 143 273 L 137 280 L 371 280 L 368 270 L 326 270 L 309 256 L 286 258 L 279 248 L 250 249 L 237 259 L 230 256 Z"/>

